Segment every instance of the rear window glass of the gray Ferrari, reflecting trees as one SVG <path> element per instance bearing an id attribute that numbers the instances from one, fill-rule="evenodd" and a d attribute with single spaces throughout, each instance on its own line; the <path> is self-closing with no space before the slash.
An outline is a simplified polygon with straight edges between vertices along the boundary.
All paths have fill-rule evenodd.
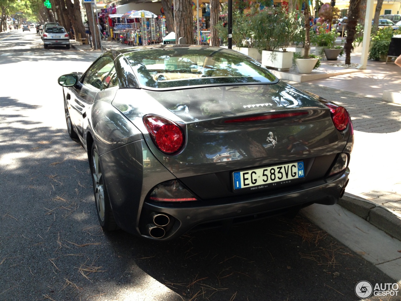
<path id="1" fill-rule="evenodd" d="M 217 47 L 138 49 L 125 56 L 140 85 L 153 89 L 277 81 L 250 57 Z"/>

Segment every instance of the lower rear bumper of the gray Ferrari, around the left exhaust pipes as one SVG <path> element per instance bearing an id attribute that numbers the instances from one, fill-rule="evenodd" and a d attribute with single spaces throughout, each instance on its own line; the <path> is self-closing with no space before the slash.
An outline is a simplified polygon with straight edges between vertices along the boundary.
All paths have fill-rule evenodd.
<path id="1" fill-rule="evenodd" d="M 348 183 L 349 170 L 331 179 L 304 183 L 298 189 L 286 189 L 286 192 L 277 191 L 264 197 L 252 198 L 249 195 L 243 201 L 226 204 L 213 204 L 213 201 L 200 201 L 185 204 L 171 204 L 160 202 L 145 202 L 137 229 L 126 228 L 128 232 L 150 239 L 171 240 L 190 230 L 202 230 L 239 224 L 251 220 L 267 218 L 294 212 L 312 203 L 334 205 L 344 193 Z M 164 214 L 169 223 L 163 227 L 165 234 L 161 238 L 154 238 L 149 231 L 154 214 Z M 152 225 L 154 226 L 154 225 Z"/>

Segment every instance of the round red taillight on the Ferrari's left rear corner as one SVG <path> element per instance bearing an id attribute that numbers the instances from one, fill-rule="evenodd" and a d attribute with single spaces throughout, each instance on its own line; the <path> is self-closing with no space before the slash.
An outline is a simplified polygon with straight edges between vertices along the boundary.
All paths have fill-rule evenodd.
<path id="1" fill-rule="evenodd" d="M 184 134 L 172 121 L 156 115 L 146 115 L 144 124 L 154 144 L 163 153 L 176 153 L 184 145 Z"/>

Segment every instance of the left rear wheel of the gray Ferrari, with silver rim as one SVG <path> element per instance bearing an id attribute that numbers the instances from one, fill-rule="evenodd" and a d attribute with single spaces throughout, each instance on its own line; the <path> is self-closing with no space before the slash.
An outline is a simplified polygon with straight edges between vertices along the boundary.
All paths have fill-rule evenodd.
<path id="1" fill-rule="evenodd" d="M 104 175 L 101 168 L 99 153 L 95 143 L 92 143 L 91 149 L 91 175 L 93 181 L 93 193 L 95 195 L 95 204 L 99 224 L 106 231 L 117 230 L 113 211 L 111 210 L 107 189 L 104 184 Z"/>

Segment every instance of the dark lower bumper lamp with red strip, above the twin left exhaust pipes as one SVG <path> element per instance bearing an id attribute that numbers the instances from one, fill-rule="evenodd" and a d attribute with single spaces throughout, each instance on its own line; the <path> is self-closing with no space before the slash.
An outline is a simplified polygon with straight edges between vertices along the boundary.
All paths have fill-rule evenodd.
<path id="1" fill-rule="evenodd" d="M 178 180 L 171 180 L 160 183 L 149 195 L 152 201 L 159 202 L 185 202 L 197 201 L 196 197 L 190 193 Z"/>

